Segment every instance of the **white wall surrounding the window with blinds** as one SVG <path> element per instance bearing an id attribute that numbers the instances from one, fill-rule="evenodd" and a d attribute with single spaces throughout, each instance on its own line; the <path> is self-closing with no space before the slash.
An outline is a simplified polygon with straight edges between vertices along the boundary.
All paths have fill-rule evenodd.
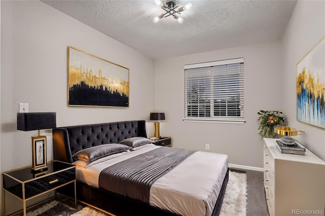
<path id="1" fill-rule="evenodd" d="M 183 122 L 184 64 L 244 57 L 245 124 Z M 155 107 L 164 111 L 160 135 L 172 136 L 173 146 L 229 155 L 229 162 L 263 167 L 257 111 L 280 110 L 281 42 L 270 42 L 199 53 L 155 62 Z"/>

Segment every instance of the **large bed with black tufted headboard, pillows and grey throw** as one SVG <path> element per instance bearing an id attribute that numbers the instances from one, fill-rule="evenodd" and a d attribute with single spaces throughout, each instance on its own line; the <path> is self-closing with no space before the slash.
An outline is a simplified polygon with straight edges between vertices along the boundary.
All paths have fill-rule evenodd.
<path id="1" fill-rule="evenodd" d="M 53 159 L 76 164 L 77 200 L 117 216 L 219 215 L 228 183 L 228 156 L 150 143 L 135 146 L 148 140 L 145 125 L 137 120 L 53 129 Z M 124 145 L 129 149 L 98 157 L 99 152 Z M 93 149 L 100 150 L 94 154 Z M 89 160 L 93 156 L 98 158 Z M 132 182 L 129 176 L 136 171 Z M 144 185 L 139 173 L 145 173 Z M 123 179 L 128 182 L 120 182 Z M 60 193 L 69 196 L 67 191 Z"/>

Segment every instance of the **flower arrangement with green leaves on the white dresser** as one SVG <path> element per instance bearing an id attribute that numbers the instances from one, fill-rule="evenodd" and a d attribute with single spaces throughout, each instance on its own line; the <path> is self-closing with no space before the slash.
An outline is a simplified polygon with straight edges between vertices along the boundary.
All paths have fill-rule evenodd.
<path id="1" fill-rule="evenodd" d="M 264 111 L 257 112 L 258 115 L 258 135 L 262 138 L 267 134 L 269 137 L 275 138 L 274 126 L 284 125 L 285 118 L 280 111 Z"/>

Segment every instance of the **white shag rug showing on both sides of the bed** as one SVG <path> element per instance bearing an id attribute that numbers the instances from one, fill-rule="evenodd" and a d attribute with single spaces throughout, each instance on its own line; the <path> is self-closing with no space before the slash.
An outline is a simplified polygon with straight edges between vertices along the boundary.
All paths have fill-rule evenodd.
<path id="1" fill-rule="evenodd" d="M 238 172 L 229 172 L 229 181 L 224 194 L 220 216 L 246 216 L 246 206 L 247 206 L 247 181 L 246 181 L 246 173 L 238 173 Z M 27 212 L 27 216 L 36 216 L 39 214 L 43 214 L 50 210 L 51 208 L 55 208 L 57 204 L 60 204 L 58 201 L 52 201 L 34 211 Z M 67 207 L 68 209 L 64 209 L 63 212 L 57 212 L 57 216 L 71 215 L 71 216 L 106 216 L 108 214 L 93 209 L 91 207 L 84 207 L 81 210 L 67 214 L 69 210 L 74 212 L 76 209 Z M 79 208 L 80 209 L 80 208 Z M 56 209 L 57 210 L 57 209 Z M 54 210 L 55 211 L 55 210 Z M 54 215 L 53 212 L 50 213 Z M 44 215 L 44 214 L 43 214 Z M 48 215 L 48 214 L 45 214 Z"/>

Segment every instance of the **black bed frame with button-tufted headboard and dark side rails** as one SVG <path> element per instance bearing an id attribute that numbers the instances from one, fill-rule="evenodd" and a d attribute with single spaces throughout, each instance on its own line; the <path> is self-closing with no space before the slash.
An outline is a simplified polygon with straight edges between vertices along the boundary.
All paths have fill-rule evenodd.
<path id="1" fill-rule="evenodd" d="M 147 137 L 144 120 L 123 121 L 102 124 L 75 125 L 53 129 L 53 159 L 68 163 L 73 162 L 72 155 L 82 149 L 108 143 L 118 143 L 123 139 L 142 136 Z M 212 215 L 219 215 L 229 170 L 223 180 L 220 194 Z M 67 191 L 61 191 L 65 195 Z M 77 200 L 90 206 L 102 209 L 117 216 L 129 215 L 178 215 L 147 203 L 123 197 L 108 191 L 91 187 L 81 182 L 76 186 Z"/>

